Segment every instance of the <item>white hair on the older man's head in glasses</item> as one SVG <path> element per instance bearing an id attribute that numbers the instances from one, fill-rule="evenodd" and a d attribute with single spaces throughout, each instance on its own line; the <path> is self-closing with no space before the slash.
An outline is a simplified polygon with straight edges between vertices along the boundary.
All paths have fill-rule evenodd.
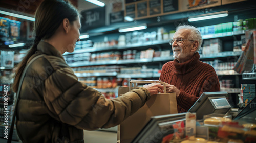
<path id="1" fill-rule="evenodd" d="M 193 40 L 193 41 L 198 41 L 198 47 L 196 50 L 196 52 L 198 52 L 203 43 L 203 39 L 202 39 L 200 31 L 196 27 L 190 26 L 190 25 L 179 25 L 176 28 L 176 31 L 178 31 L 180 29 L 191 29 L 190 35 L 188 35 L 188 39 Z"/>

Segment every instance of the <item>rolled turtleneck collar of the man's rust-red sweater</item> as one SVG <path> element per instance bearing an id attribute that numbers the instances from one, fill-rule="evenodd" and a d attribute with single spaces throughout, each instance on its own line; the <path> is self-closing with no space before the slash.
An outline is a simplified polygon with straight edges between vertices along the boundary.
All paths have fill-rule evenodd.
<path id="1" fill-rule="evenodd" d="M 177 59 L 174 59 L 174 72 L 176 74 L 185 74 L 193 70 L 199 64 L 200 55 L 196 52 L 191 59 L 184 63 L 179 63 Z"/>

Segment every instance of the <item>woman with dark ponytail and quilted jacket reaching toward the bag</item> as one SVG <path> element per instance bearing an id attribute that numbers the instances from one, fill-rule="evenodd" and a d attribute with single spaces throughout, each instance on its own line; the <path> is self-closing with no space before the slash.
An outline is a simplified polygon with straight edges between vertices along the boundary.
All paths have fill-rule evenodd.
<path id="1" fill-rule="evenodd" d="M 17 92 L 16 127 L 22 142 L 84 142 L 83 129 L 120 124 L 163 85 L 148 84 L 109 100 L 79 82 L 62 54 L 73 52 L 79 41 L 79 13 L 67 1 L 46 0 L 35 13 L 34 45 L 19 64 L 13 90 Z"/>

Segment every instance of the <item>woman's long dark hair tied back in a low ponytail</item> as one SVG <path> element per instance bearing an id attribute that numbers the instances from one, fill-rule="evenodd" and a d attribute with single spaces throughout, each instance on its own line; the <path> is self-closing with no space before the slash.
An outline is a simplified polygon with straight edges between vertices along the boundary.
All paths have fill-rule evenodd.
<path id="1" fill-rule="evenodd" d="M 72 24 L 73 21 L 77 20 L 78 15 L 77 9 L 69 1 L 45 0 L 40 4 L 35 12 L 34 31 L 36 37 L 34 44 L 16 69 L 13 83 L 14 92 L 17 92 L 23 70 L 27 65 L 28 59 L 37 51 L 39 42 L 51 38 L 61 25 L 63 19 L 68 18 Z"/>

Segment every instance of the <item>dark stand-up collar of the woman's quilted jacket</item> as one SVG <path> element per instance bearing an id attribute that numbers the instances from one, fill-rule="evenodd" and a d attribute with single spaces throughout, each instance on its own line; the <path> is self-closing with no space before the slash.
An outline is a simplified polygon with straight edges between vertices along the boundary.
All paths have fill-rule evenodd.
<path id="1" fill-rule="evenodd" d="M 45 41 L 40 41 L 38 43 L 37 50 L 41 51 L 46 55 L 56 56 L 64 60 L 62 54 L 54 46 Z"/>

